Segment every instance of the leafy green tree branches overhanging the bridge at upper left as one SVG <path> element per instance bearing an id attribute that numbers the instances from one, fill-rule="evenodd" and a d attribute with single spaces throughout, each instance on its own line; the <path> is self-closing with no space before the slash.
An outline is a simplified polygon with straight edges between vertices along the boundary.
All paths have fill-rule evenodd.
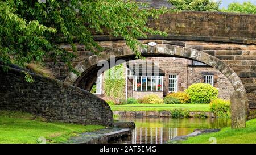
<path id="1" fill-rule="evenodd" d="M 148 33 L 167 36 L 145 26 L 147 19 L 168 11 L 141 9 L 137 2 L 123 0 L 1 0 L 0 61 L 24 67 L 49 57 L 63 61 L 76 73 L 71 64 L 76 57 L 75 43 L 97 54 L 101 47 L 92 31 L 102 33 L 103 27 L 109 35 L 123 37 L 139 57 L 137 38 L 146 38 Z M 72 51 L 61 49 L 59 41 L 70 44 Z"/>

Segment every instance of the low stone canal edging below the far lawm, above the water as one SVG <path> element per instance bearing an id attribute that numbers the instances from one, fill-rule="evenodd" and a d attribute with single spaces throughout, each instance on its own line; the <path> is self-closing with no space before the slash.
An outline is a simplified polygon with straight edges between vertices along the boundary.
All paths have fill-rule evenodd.
<path id="1" fill-rule="evenodd" d="M 121 117 L 149 117 L 149 118 L 172 118 L 171 111 L 113 111 L 114 115 Z M 212 112 L 189 112 L 189 118 L 201 117 L 202 115 L 207 118 L 214 118 Z"/>

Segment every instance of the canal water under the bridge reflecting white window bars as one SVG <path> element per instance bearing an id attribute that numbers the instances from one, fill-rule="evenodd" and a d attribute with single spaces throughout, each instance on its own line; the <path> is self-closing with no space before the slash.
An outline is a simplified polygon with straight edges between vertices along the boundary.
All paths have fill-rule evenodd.
<path id="1" fill-rule="evenodd" d="M 110 143 L 162 144 L 176 136 L 185 136 L 195 129 L 216 129 L 230 126 L 230 119 L 216 118 L 115 118 L 135 122 L 132 135 Z"/>

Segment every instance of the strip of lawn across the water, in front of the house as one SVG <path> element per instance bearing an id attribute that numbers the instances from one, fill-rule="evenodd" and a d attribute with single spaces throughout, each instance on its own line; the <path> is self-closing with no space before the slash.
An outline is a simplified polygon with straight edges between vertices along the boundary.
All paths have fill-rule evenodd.
<path id="1" fill-rule="evenodd" d="M 112 111 L 169 111 L 185 109 L 189 111 L 210 111 L 210 104 L 125 104 L 112 105 Z"/>

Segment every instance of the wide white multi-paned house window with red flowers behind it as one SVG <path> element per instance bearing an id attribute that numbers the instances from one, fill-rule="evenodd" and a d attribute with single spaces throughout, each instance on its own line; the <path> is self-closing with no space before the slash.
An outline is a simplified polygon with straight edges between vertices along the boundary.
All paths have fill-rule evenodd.
<path id="1" fill-rule="evenodd" d="M 135 91 L 163 91 L 163 76 L 134 76 Z"/>

